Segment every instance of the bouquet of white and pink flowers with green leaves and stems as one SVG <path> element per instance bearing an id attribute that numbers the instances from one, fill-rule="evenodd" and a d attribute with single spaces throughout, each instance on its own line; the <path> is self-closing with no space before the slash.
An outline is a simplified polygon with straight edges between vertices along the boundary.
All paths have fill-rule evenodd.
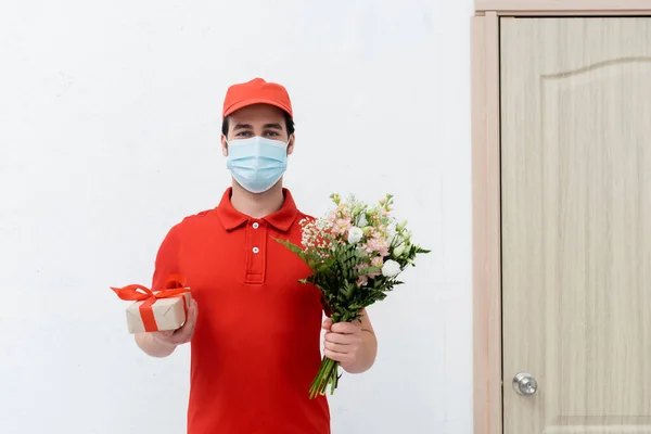
<path id="1" fill-rule="evenodd" d="M 414 266 L 417 254 L 430 251 L 411 241 L 407 221 L 397 222 L 391 215 L 391 194 L 374 206 L 353 195 L 342 201 L 334 193 L 330 199 L 336 206 L 323 217 L 301 221 L 301 246 L 277 241 L 308 265 L 311 275 L 301 282 L 321 291 L 335 323 L 361 318 L 365 307 L 384 299 L 387 292 L 404 283 L 397 277 Z M 309 387 L 310 398 L 324 395 L 328 385 L 333 394 L 339 379 L 339 362 L 323 357 Z"/>

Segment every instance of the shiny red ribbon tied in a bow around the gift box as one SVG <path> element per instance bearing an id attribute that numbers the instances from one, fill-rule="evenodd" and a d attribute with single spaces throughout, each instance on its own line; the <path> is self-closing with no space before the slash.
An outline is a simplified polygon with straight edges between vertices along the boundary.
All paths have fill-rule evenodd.
<path id="1" fill-rule="evenodd" d="M 170 284 L 173 288 L 169 288 Z M 111 289 L 115 291 L 118 297 L 127 302 L 140 302 L 144 301 L 138 308 L 140 311 L 140 317 L 142 318 L 142 322 L 144 324 L 144 330 L 146 332 L 156 332 L 158 331 L 158 326 L 156 324 L 156 319 L 154 318 L 154 310 L 152 305 L 156 303 L 158 298 L 171 298 L 178 297 L 179 295 L 183 295 L 187 292 L 190 292 L 188 288 L 186 288 L 186 279 L 183 279 L 180 275 L 171 275 L 167 278 L 164 290 L 152 291 L 149 288 L 145 288 L 140 284 L 130 284 L 124 288 L 113 288 Z M 188 301 L 183 297 L 183 310 L 186 312 L 186 317 L 188 317 Z"/>

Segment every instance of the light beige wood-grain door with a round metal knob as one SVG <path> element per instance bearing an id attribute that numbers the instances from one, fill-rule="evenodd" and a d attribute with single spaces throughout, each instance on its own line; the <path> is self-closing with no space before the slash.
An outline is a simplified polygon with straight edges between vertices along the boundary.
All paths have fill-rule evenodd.
<path id="1" fill-rule="evenodd" d="M 501 18 L 500 86 L 503 433 L 651 433 L 651 17 Z"/>

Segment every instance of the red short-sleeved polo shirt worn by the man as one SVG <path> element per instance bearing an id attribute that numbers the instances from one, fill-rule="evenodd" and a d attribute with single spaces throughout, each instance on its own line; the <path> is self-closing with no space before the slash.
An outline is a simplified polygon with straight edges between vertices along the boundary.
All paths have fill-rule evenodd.
<path id="1" fill-rule="evenodd" d="M 156 257 L 152 286 L 181 273 L 199 305 L 188 434 L 329 434 L 328 401 L 308 393 L 321 362 L 321 294 L 297 282 L 309 269 L 275 241 L 299 244 L 306 215 L 284 189 L 281 209 L 251 218 L 231 191 L 173 227 Z"/>

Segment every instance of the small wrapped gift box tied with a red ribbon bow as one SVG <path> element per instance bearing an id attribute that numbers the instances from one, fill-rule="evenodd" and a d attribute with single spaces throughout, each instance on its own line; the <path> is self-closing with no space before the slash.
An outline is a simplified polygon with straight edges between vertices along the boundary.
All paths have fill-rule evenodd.
<path id="1" fill-rule="evenodd" d="M 183 326 L 192 298 L 190 289 L 177 275 L 164 286 L 158 291 L 139 284 L 111 288 L 122 299 L 133 302 L 126 310 L 129 333 L 177 330 Z"/>

